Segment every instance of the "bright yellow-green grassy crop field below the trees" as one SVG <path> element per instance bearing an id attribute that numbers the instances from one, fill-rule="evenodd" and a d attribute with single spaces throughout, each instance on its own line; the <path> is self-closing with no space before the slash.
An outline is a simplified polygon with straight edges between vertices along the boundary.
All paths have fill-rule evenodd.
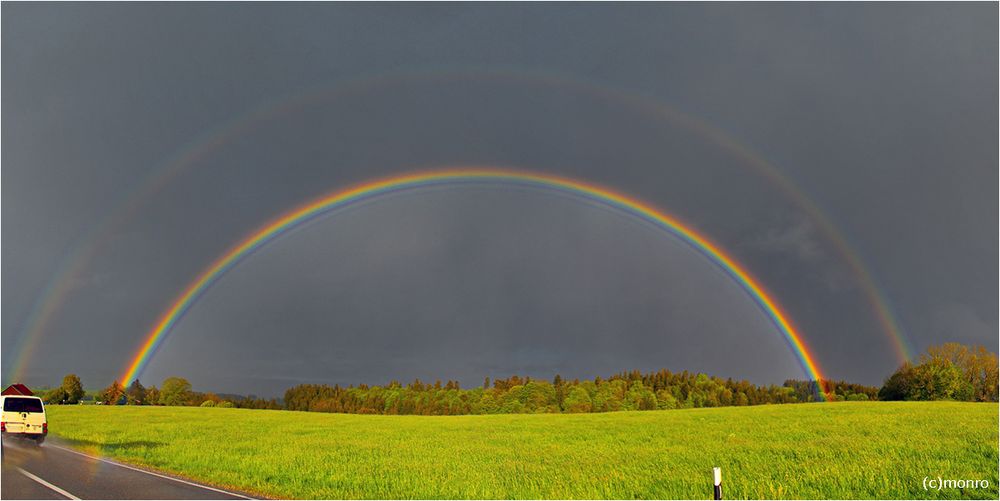
<path id="1" fill-rule="evenodd" d="M 48 407 L 63 442 L 273 497 L 997 499 L 997 404 L 844 402 L 586 415 Z M 925 490 L 924 477 L 988 488 Z"/>

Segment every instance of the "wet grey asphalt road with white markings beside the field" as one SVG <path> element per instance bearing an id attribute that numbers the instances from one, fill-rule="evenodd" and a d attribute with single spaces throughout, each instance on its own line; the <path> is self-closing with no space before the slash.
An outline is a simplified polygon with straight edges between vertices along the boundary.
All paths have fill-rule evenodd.
<path id="1" fill-rule="evenodd" d="M 250 499 L 85 455 L 49 439 L 4 439 L 0 499 Z"/>

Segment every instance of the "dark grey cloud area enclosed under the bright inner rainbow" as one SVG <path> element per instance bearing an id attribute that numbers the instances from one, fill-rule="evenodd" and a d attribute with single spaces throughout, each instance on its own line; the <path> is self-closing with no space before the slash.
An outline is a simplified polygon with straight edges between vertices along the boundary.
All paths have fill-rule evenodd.
<path id="1" fill-rule="evenodd" d="M 151 378 L 222 376 L 219 353 L 230 378 L 341 384 L 478 383 L 512 367 L 594 377 L 623 364 L 769 381 L 798 372 L 766 319 L 700 255 L 621 215 L 538 193 L 391 199 L 300 231 L 252 263 L 189 315 Z M 720 350 L 745 356 L 719 366 Z"/>

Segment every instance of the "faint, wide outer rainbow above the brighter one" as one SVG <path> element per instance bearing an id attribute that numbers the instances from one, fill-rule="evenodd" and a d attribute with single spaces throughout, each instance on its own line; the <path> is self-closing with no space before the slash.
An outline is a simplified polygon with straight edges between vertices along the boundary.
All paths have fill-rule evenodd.
<path id="1" fill-rule="evenodd" d="M 649 114 L 661 120 L 674 123 L 686 130 L 698 134 L 705 140 L 715 144 L 723 151 L 745 162 L 757 174 L 769 180 L 789 200 L 802 209 L 816 224 L 817 229 L 834 245 L 837 253 L 851 269 L 855 282 L 860 287 L 863 297 L 870 304 L 874 319 L 881 326 L 894 349 L 899 362 L 912 360 L 913 345 L 900 325 L 898 316 L 892 309 L 888 294 L 879 285 L 873 272 L 868 269 L 857 246 L 850 242 L 841 232 L 836 223 L 827 215 L 827 211 L 810 199 L 781 170 L 769 163 L 763 157 L 746 146 L 729 137 L 723 131 L 678 110 L 667 106 L 657 99 L 634 91 L 622 91 L 603 85 L 578 80 L 570 75 L 555 73 L 540 73 L 526 71 L 521 68 L 438 68 L 433 71 L 408 71 L 402 73 L 374 74 L 357 78 L 345 79 L 333 84 L 316 88 L 304 89 L 275 100 L 261 103 L 245 113 L 220 126 L 207 131 L 184 145 L 179 152 L 172 155 L 154 171 L 146 181 L 139 183 L 118 206 L 110 212 L 101 224 L 92 228 L 69 249 L 55 273 L 50 277 L 42 291 L 36 296 L 27 317 L 20 325 L 19 336 L 15 346 L 11 348 L 17 356 L 12 364 L 5 367 L 4 376 L 8 381 L 20 381 L 28 363 L 35 358 L 35 352 L 42 338 L 51 333 L 53 319 L 60 312 L 63 304 L 74 291 L 74 284 L 94 260 L 101 254 L 111 236 L 129 224 L 141 212 L 142 206 L 154 198 L 173 180 L 189 171 L 199 162 L 204 161 L 215 150 L 222 148 L 234 138 L 252 130 L 261 123 L 274 120 L 277 117 L 292 113 L 321 101 L 336 101 L 371 89 L 385 90 L 393 85 L 413 81 L 432 81 L 441 79 L 497 79 L 509 80 L 518 84 L 547 85 L 564 88 L 566 91 L 583 93 L 593 97 L 608 100 L 637 112 Z"/>

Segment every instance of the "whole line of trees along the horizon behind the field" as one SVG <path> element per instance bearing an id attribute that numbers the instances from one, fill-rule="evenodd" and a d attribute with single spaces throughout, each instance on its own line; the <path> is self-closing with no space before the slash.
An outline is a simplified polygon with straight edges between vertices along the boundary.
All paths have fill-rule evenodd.
<path id="1" fill-rule="evenodd" d="M 354 414 L 516 414 L 589 413 L 622 410 L 663 410 L 815 402 L 821 395 L 835 401 L 964 400 L 996 402 L 997 355 L 979 346 L 947 343 L 928 349 L 917 363 L 903 364 L 881 388 L 846 381 L 787 380 L 781 386 L 755 385 L 687 371 L 630 371 L 608 378 L 551 381 L 527 376 L 486 378 L 482 386 L 462 388 L 457 381 L 385 386 L 341 387 L 301 384 L 285 391 L 284 400 L 255 396 L 218 395 L 192 390 L 181 377 L 170 377 L 159 388 L 138 380 L 127 388 L 115 381 L 96 395 L 105 405 L 181 405 L 287 409 Z M 83 397 L 80 379 L 70 374 L 62 386 L 45 394 L 46 403 L 77 403 Z"/>

